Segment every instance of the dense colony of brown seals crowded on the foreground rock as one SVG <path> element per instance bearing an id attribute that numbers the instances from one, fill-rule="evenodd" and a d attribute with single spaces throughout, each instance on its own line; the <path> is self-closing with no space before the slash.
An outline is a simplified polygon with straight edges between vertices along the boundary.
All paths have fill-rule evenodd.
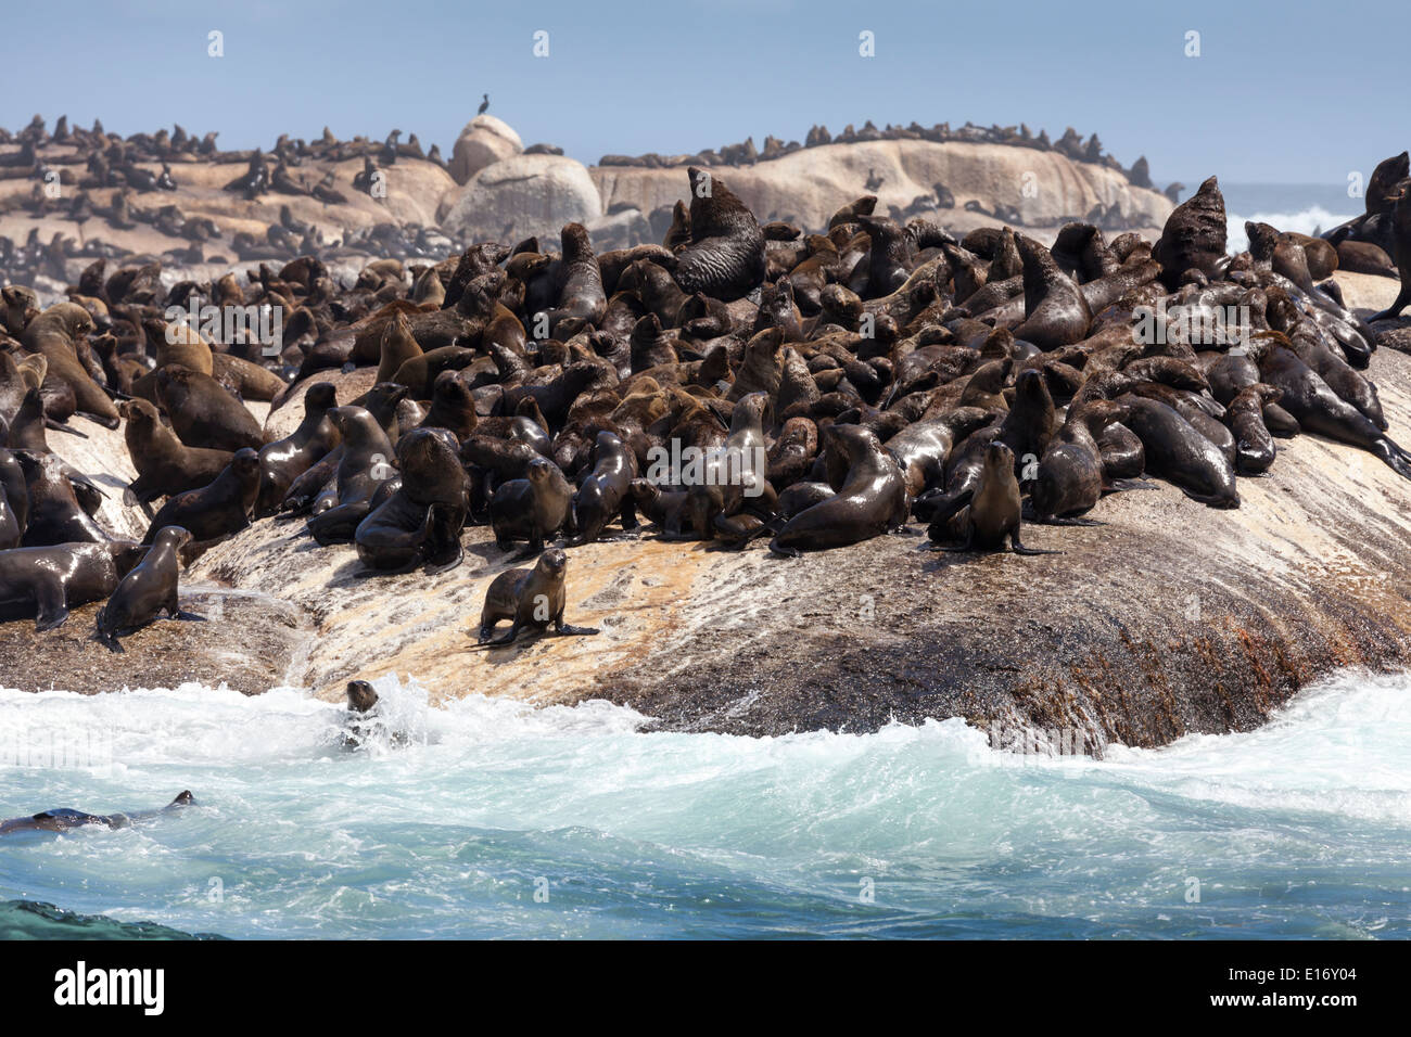
<path id="1" fill-rule="evenodd" d="M 1267 471 L 1276 440 L 1300 433 L 1411 478 L 1362 374 L 1379 332 L 1325 279 L 1325 250 L 1252 226 L 1252 250 L 1226 255 L 1213 178 L 1154 244 L 1074 223 L 1053 247 L 1010 229 L 958 241 L 926 220 L 872 216 L 866 196 L 804 234 L 761 227 L 720 176 L 693 168 L 683 188 L 690 203 L 663 245 L 594 254 L 569 224 L 559 251 L 478 243 L 415 282 L 380 261 L 340 286 L 303 257 L 250 271 L 247 288 L 227 277 L 165 293 L 154 267 L 107 275 L 95 264 L 75 302 L 42 313 L 7 293 L 0 518 L 25 546 L 0 552 L 0 601 L 62 622 L 143 554 L 189 560 L 251 522 L 306 528 L 312 550 L 351 542 L 367 576 L 461 564 L 467 523 L 491 523 L 507 554 L 521 542 L 571 552 L 641 535 L 638 508 L 672 539 L 768 543 L 780 556 L 912 521 L 940 547 L 1007 540 L 1027 553 L 1061 549 L 1062 535 L 1026 549 L 1022 523 L 1098 522 L 1102 497 L 1140 490 L 1143 474 L 1235 508 L 1239 478 Z M 255 341 L 193 341 L 161 316 L 175 295 L 303 316 L 286 320 L 271 357 Z M 61 363 L 41 371 L 35 358 Z M 274 405 L 302 394 L 298 430 L 279 443 L 251 430 L 233 361 L 296 371 Z M 360 371 L 370 388 L 333 406 L 334 384 Z M 148 480 L 134 497 L 169 497 L 152 547 L 111 540 L 93 519 L 103 491 L 45 447 L 80 389 L 120 401 L 119 420 L 141 415 L 130 444 L 159 439 L 152 413 L 171 425 L 159 473 L 133 457 Z M 663 454 L 687 447 L 704 463 L 663 475 Z M 209 483 L 178 488 L 222 451 Z M 193 540 L 164 536 L 171 525 Z M 90 576 L 55 584 L 65 557 L 85 559 Z M 587 633 L 563 624 L 556 557 L 487 594 L 490 625 L 515 619 L 509 641 L 550 622 Z M 546 615 L 532 610 L 538 584 L 555 586 Z M 166 590 L 128 597 L 155 615 Z M 566 600 L 571 615 L 571 584 Z M 478 626 L 467 614 L 467 648 Z"/>

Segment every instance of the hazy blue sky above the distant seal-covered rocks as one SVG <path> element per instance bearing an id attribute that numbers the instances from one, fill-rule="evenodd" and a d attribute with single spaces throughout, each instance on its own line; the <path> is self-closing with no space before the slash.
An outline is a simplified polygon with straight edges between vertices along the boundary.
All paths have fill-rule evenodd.
<path id="1" fill-rule="evenodd" d="M 526 145 L 587 164 L 969 120 L 1096 131 L 1158 186 L 1345 185 L 1411 144 L 1408 31 L 1408 0 L 25 0 L 6 10 L 0 126 L 181 123 L 230 150 L 396 127 L 449 158 L 488 92 Z"/>

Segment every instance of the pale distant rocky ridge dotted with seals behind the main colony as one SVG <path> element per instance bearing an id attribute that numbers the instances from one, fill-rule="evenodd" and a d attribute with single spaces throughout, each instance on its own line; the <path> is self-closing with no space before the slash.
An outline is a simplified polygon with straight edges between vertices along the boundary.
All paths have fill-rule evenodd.
<path id="1" fill-rule="evenodd" d="M 804 154 L 807 152 L 807 154 Z M 223 151 L 216 133 L 130 137 L 35 116 L 0 128 L 0 279 L 59 293 L 95 260 L 159 261 L 164 278 L 316 255 L 356 277 L 373 257 L 440 261 L 477 240 L 556 234 L 580 222 L 600 250 L 659 243 L 689 193 L 684 162 L 729 166 L 731 186 L 762 220 L 818 226 L 840 196 L 873 193 L 878 212 L 978 226 L 1156 229 L 1171 203 L 1146 161 L 1123 171 L 1068 130 L 1055 144 L 1027 127 L 916 124 L 814 127 L 804 145 L 776 138 L 670 159 L 607 157 L 598 166 L 550 144 L 525 147 L 480 114 L 450 161 L 416 134 L 312 141 L 282 134 L 265 151 Z M 1040 233 L 1040 237 L 1043 234 Z"/>

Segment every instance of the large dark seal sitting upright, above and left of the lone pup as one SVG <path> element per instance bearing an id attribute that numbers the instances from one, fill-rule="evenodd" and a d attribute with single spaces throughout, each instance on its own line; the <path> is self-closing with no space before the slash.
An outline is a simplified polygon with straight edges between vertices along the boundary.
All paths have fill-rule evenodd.
<path id="1" fill-rule="evenodd" d="M 401 485 L 354 530 L 358 559 L 377 573 L 454 569 L 463 557 L 470 488 L 459 443 L 446 429 L 413 429 L 396 442 Z"/>

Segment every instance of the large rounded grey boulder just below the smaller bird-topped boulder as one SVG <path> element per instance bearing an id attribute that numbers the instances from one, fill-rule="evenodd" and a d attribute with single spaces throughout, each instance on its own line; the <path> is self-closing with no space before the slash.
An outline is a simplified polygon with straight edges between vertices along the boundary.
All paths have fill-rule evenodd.
<path id="1" fill-rule="evenodd" d="M 583 164 L 562 155 L 515 155 L 471 176 L 452 198 L 442 229 L 467 241 L 518 241 L 531 234 L 557 241 L 563 224 L 587 224 L 601 214 L 598 189 Z"/>

